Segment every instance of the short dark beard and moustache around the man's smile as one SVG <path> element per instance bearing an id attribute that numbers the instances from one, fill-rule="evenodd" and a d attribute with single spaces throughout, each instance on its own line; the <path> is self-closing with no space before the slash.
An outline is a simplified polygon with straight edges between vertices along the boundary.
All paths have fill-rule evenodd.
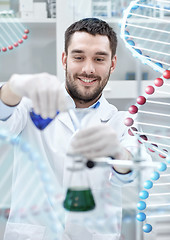
<path id="1" fill-rule="evenodd" d="M 97 88 L 93 92 L 88 91 L 88 87 L 86 87 L 86 89 L 84 91 L 85 93 L 82 94 L 79 91 L 79 87 L 77 86 L 77 81 L 75 80 L 77 78 L 77 76 L 81 76 L 81 77 L 85 77 L 85 78 L 93 78 L 93 79 L 95 78 L 96 81 L 102 81 L 103 84 L 100 86 L 97 86 Z M 75 74 L 72 78 L 66 69 L 66 89 L 67 89 L 68 93 L 70 94 L 70 96 L 74 100 L 79 101 L 79 102 L 88 103 L 88 102 L 94 101 L 95 99 L 98 99 L 101 96 L 102 91 L 103 91 L 104 87 L 106 86 L 109 77 L 110 77 L 110 70 L 109 70 L 109 73 L 107 74 L 107 76 L 102 80 L 101 80 L 101 77 L 94 76 L 92 74 L 91 75 Z"/>

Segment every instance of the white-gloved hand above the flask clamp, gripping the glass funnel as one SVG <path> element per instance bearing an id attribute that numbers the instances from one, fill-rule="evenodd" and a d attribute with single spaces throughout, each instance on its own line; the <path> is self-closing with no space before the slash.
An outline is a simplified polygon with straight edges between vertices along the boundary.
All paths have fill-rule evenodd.
<path id="1" fill-rule="evenodd" d="M 68 154 L 81 154 L 88 159 L 128 159 L 128 151 L 121 146 L 116 132 L 107 124 L 79 130 L 71 140 Z"/>

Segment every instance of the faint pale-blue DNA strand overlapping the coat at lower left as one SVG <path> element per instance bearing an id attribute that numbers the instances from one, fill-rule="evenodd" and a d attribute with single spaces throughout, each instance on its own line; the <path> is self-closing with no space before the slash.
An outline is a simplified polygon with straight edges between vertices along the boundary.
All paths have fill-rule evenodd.
<path id="1" fill-rule="evenodd" d="M 12 156 L 9 155 L 9 146 L 11 146 L 11 149 L 14 146 L 18 147 L 18 151 L 23 153 L 24 159 L 22 162 L 18 160 L 13 162 L 13 154 Z M 5 149 L 7 149 L 7 152 Z M 35 219 L 41 218 L 51 230 L 48 232 L 51 239 L 60 239 L 63 233 L 62 222 L 64 221 L 62 219 L 62 208 L 59 207 L 62 205 L 62 192 L 56 191 L 53 179 L 41 154 L 30 143 L 26 143 L 22 137 L 11 135 L 8 130 L 2 127 L 0 129 L 0 151 L 4 155 L 1 155 L 0 163 L 2 172 L 1 192 L 4 192 L 3 188 L 6 187 L 4 183 L 7 175 L 5 173 L 11 174 L 12 169 L 15 169 L 12 177 L 12 202 L 10 209 L 8 209 L 9 212 L 6 210 L 4 215 L 8 219 L 8 223 L 18 221 L 32 223 L 32 219 L 35 222 Z M 9 163 L 8 167 L 11 167 L 4 172 L 7 162 Z M 20 168 L 22 168 L 22 172 L 17 176 L 16 172 Z M 30 191 L 31 196 L 29 197 Z M 1 199 L 1 206 L 6 206 L 10 194 L 11 192 L 7 192 L 4 195 L 4 198 Z M 56 202 L 58 203 L 57 209 Z"/>

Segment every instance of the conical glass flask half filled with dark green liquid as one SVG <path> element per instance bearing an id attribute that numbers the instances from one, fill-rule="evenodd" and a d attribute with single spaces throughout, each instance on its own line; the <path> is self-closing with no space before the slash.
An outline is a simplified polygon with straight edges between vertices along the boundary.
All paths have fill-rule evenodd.
<path id="1" fill-rule="evenodd" d="M 72 212 L 90 211 L 95 208 L 95 202 L 90 189 L 84 162 L 75 160 L 70 171 L 69 186 L 63 206 Z"/>

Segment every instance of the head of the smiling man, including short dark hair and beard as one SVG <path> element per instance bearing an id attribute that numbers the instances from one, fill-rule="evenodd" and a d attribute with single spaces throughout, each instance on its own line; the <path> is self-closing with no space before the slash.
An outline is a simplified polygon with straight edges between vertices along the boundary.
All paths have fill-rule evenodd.
<path id="1" fill-rule="evenodd" d="M 77 107 L 89 107 L 100 98 L 116 66 L 116 34 L 104 29 L 104 22 L 101 33 L 97 19 L 75 23 L 65 33 L 66 89 Z"/>

